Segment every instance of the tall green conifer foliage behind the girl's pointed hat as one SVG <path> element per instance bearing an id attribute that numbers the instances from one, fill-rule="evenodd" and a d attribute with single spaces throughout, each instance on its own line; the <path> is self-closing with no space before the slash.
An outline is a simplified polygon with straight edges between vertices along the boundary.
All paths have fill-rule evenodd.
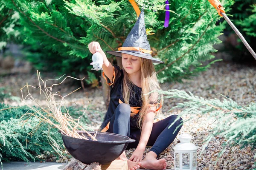
<path id="1" fill-rule="evenodd" d="M 221 42 L 217 37 L 224 24 L 215 26 L 220 17 L 208 1 L 169 1 L 173 12 L 168 28 L 163 27 L 164 0 L 136 2 L 145 8 L 146 28 L 155 33 L 148 35 L 153 56 L 166 62 L 155 67 L 161 82 L 180 81 L 209 67 L 202 63 L 214 58 L 212 45 Z M 232 2 L 223 4 L 226 11 Z M 90 71 L 92 55 L 87 45 L 91 41 L 99 41 L 103 51 L 117 50 L 137 20 L 128 0 L 13 0 L 3 4 L 19 13 L 23 43 L 40 47 L 41 54 L 29 55 L 29 60 L 41 69 L 73 74 Z M 115 59 L 109 54 L 108 58 Z M 93 73 L 100 76 L 100 72 Z"/>

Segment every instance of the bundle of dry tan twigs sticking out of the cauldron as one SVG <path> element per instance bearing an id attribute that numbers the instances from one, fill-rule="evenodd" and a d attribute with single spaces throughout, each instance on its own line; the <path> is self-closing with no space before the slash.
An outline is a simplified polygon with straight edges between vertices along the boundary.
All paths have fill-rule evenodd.
<path id="1" fill-rule="evenodd" d="M 32 85 L 28 85 L 28 83 L 26 83 L 26 85 L 23 88 L 27 89 L 28 94 L 25 97 L 23 97 L 23 88 L 20 89 L 21 95 L 22 95 L 22 99 L 21 99 L 22 102 L 24 102 L 25 105 L 27 105 L 29 108 L 31 108 L 30 111 L 33 111 L 33 112 L 29 111 L 26 114 L 24 114 L 23 116 L 27 116 L 28 119 L 31 116 L 35 116 L 36 118 L 38 118 L 40 120 L 40 124 L 48 123 L 50 126 L 54 126 L 54 127 L 58 128 L 58 130 L 60 130 L 62 134 L 67 135 L 67 136 L 71 136 L 71 137 L 78 138 L 78 139 L 88 140 L 83 135 L 83 133 L 79 133 L 79 131 L 82 131 L 84 133 L 87 133 L 87 135 L 90 136 L 91 139 L 96 140 L 95 136 L 92 136 L 90 133 L 88 133 L 84 129 L 84 127 L 79 125 L 79 120 L 80 120 L 81 116 L 84 115 L 86 110 L 78 119 L 73 119 L 70 116 L 69 110 L 68 110 L 68 104 L 71 102 L 67 102 L 64 99 L 66 96 L 72 94 L 73 92 L 79 90 L 80 88 L 76 89 L 75 91 L 72 91 L 70 94 L 67 94 L 65 96 L 61 96 L 60 94 L 58 94 L 58 93 L 60 93 L 59 91 L 57 91 L 57 92 L 52 91 L 53 86 L 60 85 L 61 83 L 63 83 L 65 81 L 65 79 L 67 79 L 67 77 L 70 77 L 70 76 L 65 77 L 64 80 L 58 84 L 53 84 L 51 86 L 47 86 L 47 81 L 49 81 L 49 80 L 57 81 L 57 80 L 61 79 L 64 75 L 58 79 L 48 79 L 44 82 L 44 80 L 41 79 L 41 77 L 40 77 L 40 72 L 38 73 L 38 71 L 37 71 L 37 74 L 38 74 L 38 82 L 39 82 L 38 88 L 36 88 Z M 70 78 L 76 79 L 74 77 L 70 77 Z M 76 80 L 83 80 L 83 79 L 76 79 Z M 43 83 L 43 87 L 41 86 L 40 83 Z M 38 103 L 38 101 L 29 92 L 29 88 L 38 89 L 40 91 L 40 95 L 43 93 L 45 95 L 45 100 L 47 102 L 47 106 L 40 105 Z M 61 98 L 60 102 L 55 101 L 56 96 Z M 35 106 L 38 106 L 38 108 L 32 107 L 31 105 L 26 103 L 27 99 L 29 99 L 30 101 L 35 103 L 36 104 Z M 63 109 L 66 111 L 65 113 L 63 113 L 61 111 Z M 40 125 L 38 125 L 38 127 L 40 127 Z"/>

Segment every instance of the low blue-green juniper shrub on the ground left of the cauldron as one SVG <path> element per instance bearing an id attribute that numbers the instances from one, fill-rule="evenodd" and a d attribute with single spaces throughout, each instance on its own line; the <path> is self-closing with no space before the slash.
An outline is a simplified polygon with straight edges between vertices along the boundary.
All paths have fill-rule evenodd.
<path id="1" fill-rule="evenodd" d="M 0 123 L 0 154 L 4 161 L 10 160 L 34 160 L 38 154 L 50 153 L 56 155 L 55 151 L 61 153 L 64 149 L 60 133 L 56 129 L 51 129 L 48 133 L 47 125 L 41 127 L 30 134 L 39 124 L 39 120 L 32 118 L 26 122 L 20 119 L 10 118 Z M 48 140 L 47 140 L 48 139 Z M 55 150 L 52 148 L 55 146 Z M 57 156 L 57 155 L 56 155 Z"/>

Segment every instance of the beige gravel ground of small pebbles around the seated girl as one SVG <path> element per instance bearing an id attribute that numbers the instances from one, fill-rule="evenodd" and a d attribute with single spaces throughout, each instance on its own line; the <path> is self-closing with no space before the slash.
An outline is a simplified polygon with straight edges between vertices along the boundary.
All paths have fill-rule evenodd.
<path id="1" fill-rule="evenodd" d="M 205 99 L 217 98 L 223 99 L 221 95 L 228 96 L 236 101 L 239 105 L 248 105 L 250 102 L 256 100 L 256 67 L 250 67 L 247 65 L 238 65 L 234 63 L 219 62 L 212 66 L 208 71 L 201 73 L 198 77 L 193 77 L 192 80 L 184 80 L 183 83 L 165 83 L 162 85 L 163 90 L 179 89 L 184 91 L 190 91 L 196 96 L 202 96 Z M 52 79 L 52 75 L 45 75 Z M 47 79 L 44 78 L 43 79 Z M 0 87 L 8 87 L 14 96 L 20 95 L 20 88 L 29 82 L 31 85 L 37 85 L 36 74 L 31 75 L 11 75 L 0 78 Z M 68 83 L 70 83 L 68 81 Z M 71 88 L 72 87 L 72 88 Z M 68 94 L 71 90 L 75 90 L 76 86 L 68 86 L 67 84 L 61 85 L 58 91 L 61 91 L 63 95 Z M 39 102 L 44 103 L 43 96 L 35 96 L 39 99 Z M 101 123 L 102 117 L 106 112 L 105 103 L 99 88 L 85 88 L 84 91 L 80 90 L 71 94 L 68 101 L 76 102 L 77 105 L 87 107 L 88 106 L 88 119 L 91 121 L 90 127 L 97 129 Z M 170 116 L 172 114 L 178 114 L 180 111 L 175 110 L 168 112 L 177 103 L 183 102 L 181 99 L 165 99 L 163 105 L 163 115 L 160 118 Z M 20 105 L 17 102 L 5 101 L 10 105 Z M 90 114 L 90 110 L 95 110 L 94 114 Z M 187 117 L 183 117 L 187 119 Z M 207 117 L 201 117 L 193 119 L 190 122 L 186 122 L 181 128 L 179 134 L 189 133 L 194 139 L 192 143 L 198 146 L 198 158 L 197 169 L 198 170 L 218 170 L 218 169 L 233 169 L 233 170 L 245 170 L 255 168 L 253 163 L 256 161 L 254 156 L 256 150 L 251 150 L 251 147 L 241 149 L 240 146 L 232 147 L 226 146 L 226 151 L 222 156 L 218 158 L 219 152 L 223 149 L 223 144 L 226 142 L 221 136 L 215 136 L 209 144 L 206 150 L 201 153 L 204 139 L 208 136 L 209 130 L 213 128 L 210 122 L 207 122 Z M 179 135 L 178 134 L 178 135 Z M 165 158 L 167 161 L 167 168 L 174 169 L 174 150 L 172 149 L 179 141 L 176 138 L 174 142 L 160 154 L 160 158 Z M 146 148 L 145 154 L 148 152 L 149 147 Z M 127 156 L 130 157 L 133 150 L 126 150 Z M 201 155 L 199 155 L 201 153 Z M 144 154 L 144 155 L 145 155 Z M 67 160 L 65 160 L 67 161 Z"/>

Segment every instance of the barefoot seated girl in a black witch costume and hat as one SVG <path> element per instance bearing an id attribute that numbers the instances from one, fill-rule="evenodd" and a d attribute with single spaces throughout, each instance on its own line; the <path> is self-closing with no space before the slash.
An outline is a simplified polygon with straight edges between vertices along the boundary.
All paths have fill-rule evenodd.
<path id="1" fill-rule="evenodd" d="M 125 152 L 119 156 L 119 159 L 128 161 L 129 170 L 166 169 L 166 160 L 157 160 L 156 157 L 174 141 L 182 127 L 182 119 L 175 122 L 171 128 L 168 127 L 175 121 L 177 115 L 154 123 L 154 116 L 160 113 L 163 99 L 162 95 L 156 92 L 148 93 L 160 90 L 153 62 L 163 62 L 151 56 L 145 33 L 144 11 L 141 11 L 140 17 L 119 51 L 106 51 L 122 57 L 123 69 L 111 65 L 99 42 L 91 42 L 88 48 L 92 54 L 96 52 L 102 54 L 104 62 L 102 76 L 111 87 L 111 100 L 101 125 L 102 132 L 116 133 L 136 140 L 127 147 L 127 149 L 136 148 L 130 159 L 127 159 Z M 157 107 L 158 105 L 160 106 Z M 177 126 L 179 128 L 175 131 Z M 146 146 L 152 147 L 143 159 Z"/>

